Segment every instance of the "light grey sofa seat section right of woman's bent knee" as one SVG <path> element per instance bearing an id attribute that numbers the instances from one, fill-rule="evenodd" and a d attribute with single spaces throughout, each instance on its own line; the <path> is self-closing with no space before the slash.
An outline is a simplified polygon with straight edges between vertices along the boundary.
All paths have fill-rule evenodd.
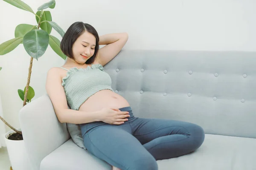
<path id="1" fill-rule="evenodd" d="M 256 170 L 256 139 L 205 134 L 195 152 L 157 162 L 159 170 Z"/>

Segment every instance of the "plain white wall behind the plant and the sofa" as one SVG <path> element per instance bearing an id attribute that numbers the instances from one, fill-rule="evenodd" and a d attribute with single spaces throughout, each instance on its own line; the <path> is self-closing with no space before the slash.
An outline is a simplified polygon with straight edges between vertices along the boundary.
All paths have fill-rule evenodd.
<path id="1" fill-rule="evenodd" d="M 48 0 L 23 0 L 34 11 Z M 89 23 L 99 35 L 128 32 L 124 49 L 256 51 L 255 0 L 56 0 L 49 9 L 64 31 L 76 21 Z M 33 14 L 0 1 L 0 43 L 14 38 L 20 23 L 36 24 Z M 61 40 L 54 30 L 52 35 Z M 19 45 L 0 56 L 0 93 L 5 119 L 19 127 L 23 102 L 17 89 L 26 85 L 30 57 Z M 49 68 L 64 60 L 50 47 L 34 60 L 30 85 L 35 98 L 46 93 Z M 6 127 L 6 131 L 10 130 Z"/>

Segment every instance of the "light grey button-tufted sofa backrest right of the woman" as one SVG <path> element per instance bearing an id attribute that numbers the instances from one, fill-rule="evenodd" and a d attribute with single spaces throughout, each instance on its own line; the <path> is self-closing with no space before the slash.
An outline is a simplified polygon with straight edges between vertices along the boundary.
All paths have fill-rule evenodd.
<path id="1" fill-rule="evenodd" d="M 256 52 L 122 50 L 104 70 L 137 117 L 256 138 Z"/>

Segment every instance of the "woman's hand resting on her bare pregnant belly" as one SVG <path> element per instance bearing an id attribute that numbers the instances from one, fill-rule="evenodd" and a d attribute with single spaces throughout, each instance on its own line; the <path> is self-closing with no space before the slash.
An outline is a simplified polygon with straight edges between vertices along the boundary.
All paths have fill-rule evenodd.
<path id="1" fill-rule="evenodd" d="M 128 121 L 127 117 L 130 117 L 129 112 L 120 111 L 118 108 L 102 108 L 99 111 L 99 121 L 111 125 L 121 125 Z"/>

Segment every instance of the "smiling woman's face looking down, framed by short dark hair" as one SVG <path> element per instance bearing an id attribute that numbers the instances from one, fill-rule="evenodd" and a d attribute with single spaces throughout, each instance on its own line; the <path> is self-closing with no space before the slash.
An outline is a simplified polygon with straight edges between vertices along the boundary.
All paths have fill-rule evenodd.
<path id="1" fill-rule="evenodd" d="M 84 64 L 95 51 L 96 38 L 93 34 L 85 31 L 73 44 L 73 56 L 75 61 Z"/>

